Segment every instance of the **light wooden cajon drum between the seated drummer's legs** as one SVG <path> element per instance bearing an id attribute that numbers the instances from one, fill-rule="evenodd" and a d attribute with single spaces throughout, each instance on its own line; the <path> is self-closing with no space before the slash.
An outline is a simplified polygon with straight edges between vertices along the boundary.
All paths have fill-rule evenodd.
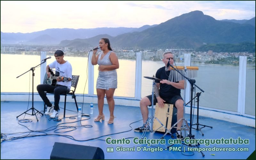
<path id="1" fill-rule="evenodd" d="M 177 122 L 177 109 L 172 104 L 164 104 L 164 108 L 160 108 L 156 103 L 155 117 L 162 123 L 167 129 L 172 127 L 172 124 Z M 172 122 L 173 121 L 173 122 Z M 166 132 L 165 128 L 154 118 L 153 130 L 156 132 Z M 159 129 L 158 129 L 159 128 Z M 157 130 L 156 130 L 157 129 Z M 171 133 L 176 132 L 176 128 L 172 128 Z"/>

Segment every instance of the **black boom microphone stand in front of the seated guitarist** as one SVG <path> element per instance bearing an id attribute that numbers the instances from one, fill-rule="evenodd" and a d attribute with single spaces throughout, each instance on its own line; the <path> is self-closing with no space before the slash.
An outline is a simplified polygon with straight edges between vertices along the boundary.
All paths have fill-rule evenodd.
<path id="1" fill-rule="evenodd" d="M 41 64 L 43 64 L 43 63 L 45 63 L 45 62 L 46 62 L 46 60 L 44 60 L 44 62 L 40 63 L 39 65 L 41 65 Z M 39 65 L 37 65 L 37 66 L 39 66 Z M 36 67 L 37 67 L 37 66 L 36 66 Z M 34 70 L 36 70 L 36 67 L 32 67 L 32 68 L 30 68 L 30 69 L 27 71 L 27 72 L 32 71 L 32 107 L 30 108 L 30 109 L 32 110 L 32 114 L 27 113 L 27 112 L 30 110 L 30 109 L 28 109 L 27 111 L 23 112 L 23 113 L 20 114 L 19 116 L 23 115 L 24 113 L 25 113 L 25 114 L 28 114 L 28 115 L 31 115 L 31 116 L 36 116 L 36 114 L 39 113 L 40 115 L 44 116 L 43 113 L 41 113 L 40 111 L 36 110 L 36 108 L 34 108 L 34 76 L 35 76 Z M 25 72 L 25 73 L 27 73 L 27 72 Z M 25 73 L 21 74 L 20 76 L 24 75 Z M 17 76 L 16 78 L 19 78 L 20 76 Z M 36 110 L 36 111 L 35 111 L 35 110 Z M 16 118 L 18 118 L 19 116 L 17 116 Z M 36 120 L 37 120 L 37 122 L 38 122 L 37 116 L 36 116 Z"/>

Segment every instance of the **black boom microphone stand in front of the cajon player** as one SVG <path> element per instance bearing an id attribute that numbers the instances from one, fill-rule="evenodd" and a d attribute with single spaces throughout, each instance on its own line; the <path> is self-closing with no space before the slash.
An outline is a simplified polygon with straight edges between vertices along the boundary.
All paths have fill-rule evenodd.
<path id="1" fill-rule="evenodd" d="M 176 70 L 178 73 L 180 73 L 180 71 L 178 70 L 178 69 L 176 69 L 176 68 L 174 68 L 172 65 L 170 65 L 174 70 Z M 192 99 L 193 99 L 193 89 L 194 89 L 194 87 L 193 87 L 193 85 L 195 85 L 198 89 L 200 89 L 202 92 L 204 92 L 204 90 L 202 90 L 201 88 L 199 88 L 195 83 L 196 83 L 196 80 L 195 79 L 190 79 L 190 78 L 188 78 L 188 77 L 186 77 L 186 76 L 184 76 L 182 73 L 180 73 L 180 75 L 181 76 L 183 76 L 184 78 L 186 78 L 187 80 L 188 80 L 188 82 L 190 83 L 190 85 L 191 85 L 191 90 L 190 90 L 190 95 L 191 95 L 191 100 L 190 100 L 190 120 L 192 119 L 192 106 L 193 106 L 193 101 L 192 101 Z M 185 82 L 186 83 L 186 82 Z M 185 91 L 184 91 L 185 92 Z M 180 121 L 180 120 L 179 120 Z M 187 121 L 185 121 L 186 122 L 186 125 L 188 124 L 188 122 Z M 167 134 L 167 133 L 166 133 Z M 195 135 L 192 135 L 192 125 L 189 125 L 189 134 L 188 134 L 188 136 L 187 137 L 189 137 L 189 140 L 191 140 L 191 139 L 195 139 Z M 184 140 L 186 137 L 184 137 L 182 140 Z M 185 143 L 182 143 L 182 144 L 184 144 L 184 145 L 187 145 L 188 147 L 197 147 L 197 148 L 199 148 L 198 147 L 198 145 L 199 145 L 199 143 L 197 143 L 197 144 L 195 144 L 195 145 L 191 145 L 191 144 L 185 144 Z M 172 146 L 172 145 L 171 145 Z M 167 148 L 169 148 L 169 147 L 171 147 L 171 146 L 168 146 Z M 202 151 L 200 151 L 201 152 L 201 154 L 202 154 L 202 156 L 204 156 L 204 153 L 202 152 Z"/>

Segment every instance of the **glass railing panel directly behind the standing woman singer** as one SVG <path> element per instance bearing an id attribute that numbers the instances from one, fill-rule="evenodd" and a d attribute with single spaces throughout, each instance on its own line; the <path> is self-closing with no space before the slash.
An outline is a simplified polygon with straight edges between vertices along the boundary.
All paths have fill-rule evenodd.
<path id="1" fill-rule="evenodd" d="M 117 52 L 119 68 L 117 72 L 117 89 L 114 96 L 135 97 L 135 52 Z M 98 78 L 98 65 L 94 66 L 94 94 L 97 94 L 96 83 Z"/>

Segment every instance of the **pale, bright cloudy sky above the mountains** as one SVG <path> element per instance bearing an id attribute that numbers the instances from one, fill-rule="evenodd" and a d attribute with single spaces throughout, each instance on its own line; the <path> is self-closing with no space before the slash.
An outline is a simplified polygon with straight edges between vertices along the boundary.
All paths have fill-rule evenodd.
<path id="1" fill-rule="evenodd" d="M 255 1 L 1 1 L 1 32 L 139 28 L 196 10 L 216 20 L 249 20 Z"/>

